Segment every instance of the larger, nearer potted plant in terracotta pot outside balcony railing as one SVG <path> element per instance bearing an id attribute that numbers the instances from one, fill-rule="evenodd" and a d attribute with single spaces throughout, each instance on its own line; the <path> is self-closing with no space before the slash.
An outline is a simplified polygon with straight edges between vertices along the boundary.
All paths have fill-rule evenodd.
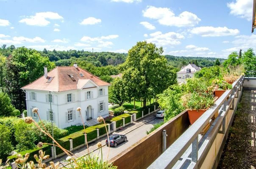
<path id="1" fill-rule="evenodd" d="M 189 121 L 192 125 L 198 118 L 214 105 L 214 96 L 211 93 L 187 93 L 182 96 L 183 106 L 189 114 Z"/>

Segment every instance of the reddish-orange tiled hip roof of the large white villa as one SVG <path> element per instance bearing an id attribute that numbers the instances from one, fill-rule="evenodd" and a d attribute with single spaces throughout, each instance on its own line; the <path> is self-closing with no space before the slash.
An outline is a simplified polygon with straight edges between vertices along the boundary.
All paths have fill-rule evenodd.
<path id="1" fill-rule="evenodd" d="M 79 73 L 82 73 L 83 77 L 79 75 Z M 70 78 L 69 74 L 72 74 L 75 81 Z M 78 89 L 79 79 L 88 79 L 84 81 L 85 83 L 89 80 L 92 80 L 98 86 L 110 85 L 109 83 L 100 80 L 97 76 L 92 75 L 88 71 L 79 67 L 75 68 L 74 66 L 57 66 L 52 71 L 48 72 L 47 75 L 48 78 L 53 77 L 50 83 L 47 83 L 48 79 L 45 79 L 45 76 L 42 76 L 31 84 L 22 87 L 21 89 L 45 90 L 53 92 L 75 90 Z M 81 84 L 79 84 L 79 86 L 81 86 Z"/>

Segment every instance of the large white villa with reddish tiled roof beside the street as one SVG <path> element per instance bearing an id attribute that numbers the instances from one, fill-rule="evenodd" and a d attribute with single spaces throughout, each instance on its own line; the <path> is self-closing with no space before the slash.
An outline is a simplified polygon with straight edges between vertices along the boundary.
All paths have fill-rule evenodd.
<path id="1" fill-rule="evenodd" d="M 65 128 L 82 124 L 77 107 L 87 125 L 97 123 L 98 116 L 108 116 L 109 85 L 75 63 L 50 72 L 45 67 L 44 76 L 21 89 L 26 93 L 28 116 L 39 120 L 32 113 L 37 107 L 42 120 L 53 120 L 58 128 Z"/>

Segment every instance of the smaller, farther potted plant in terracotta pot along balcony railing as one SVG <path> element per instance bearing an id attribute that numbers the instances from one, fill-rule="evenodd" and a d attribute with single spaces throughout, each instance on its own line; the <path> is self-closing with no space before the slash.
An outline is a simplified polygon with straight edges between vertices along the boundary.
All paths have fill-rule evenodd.
<path id="1" fill-rule="evenodd" d="M 214 95 L 218 98 L 220 98 L 223 93 L 225 93 L 226 90 L 231 89 L 232 85 L 229 84 L 228 82 L 225 82 L 224 80 L 221 79 L 214 79 L 211 82 L 211 86 L 208 87 L 208 90 L 211 93 L 214 93 Z"/>

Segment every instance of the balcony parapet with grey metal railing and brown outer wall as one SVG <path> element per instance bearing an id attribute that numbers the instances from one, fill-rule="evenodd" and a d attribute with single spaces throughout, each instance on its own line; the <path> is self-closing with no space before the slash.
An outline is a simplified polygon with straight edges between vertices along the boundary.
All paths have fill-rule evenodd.
<path id="1" fill-rule="evenodd" d="M 193 125 L 184 111 L 110 162 L 122 169 L 217 168 L 239 101 L 246 103 L 242 105 L 250 111 L 245 113 L 255 122 L 256 78 L 241 76 L 232 86 Z M 208 123 L 209 129 L 203 131 Z M 248 132 L 256 138 L 256 131 Z M 255 147 L 254 139 L 251 142 Z"/>

